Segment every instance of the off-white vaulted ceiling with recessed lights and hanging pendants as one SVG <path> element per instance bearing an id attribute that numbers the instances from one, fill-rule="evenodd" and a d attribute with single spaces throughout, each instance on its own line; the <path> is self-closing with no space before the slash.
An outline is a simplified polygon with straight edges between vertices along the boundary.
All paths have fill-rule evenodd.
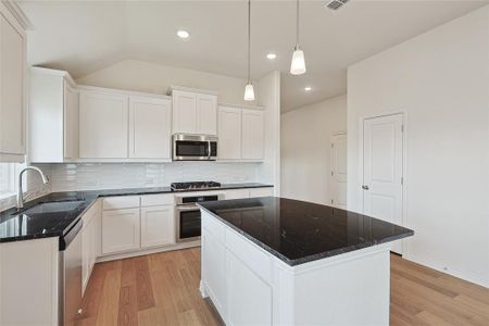
<path id="1" fill-rule="evenodd" d="M 281 111 L 346 92 L 347 67 L 489 1 L 350 0 L 339 11 L 301 0 L 300 45 L 308 72 L 288 71 L 294 1 L 252 2 L 251 73 L 281 72 Z M 82 77 L 125 59 L 233 77 L 247 73 L 247 2 L 20 1 L 35 30 L 28 60 Z M 178 28 L 190 32 L 180 40 Z M 269 61 L 266 53 L 275 52 Z M 305 86 L 312 90 L 304 91 Z"/>

